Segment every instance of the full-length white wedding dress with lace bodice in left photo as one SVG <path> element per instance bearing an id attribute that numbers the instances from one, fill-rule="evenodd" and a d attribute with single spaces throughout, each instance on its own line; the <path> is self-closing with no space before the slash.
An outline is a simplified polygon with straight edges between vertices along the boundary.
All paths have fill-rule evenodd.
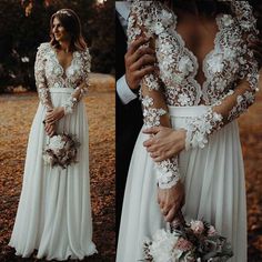
<path id="1" fill-rule="evenodd" d="M 88 83 L 89 51 L 74 51 L 64 71 L 50 43 L 42 43 L 34 72 L 40 103 L 29 134 L 22 192 L 9 245 L 23 258 L 38 250 L 38 259 L 83 259 L 97 250 L 92 242 L 85 107 L 82 92 L 77 99 L 73 94 L 80 82 Z M 54 107 L 66 109 L 57 133 L 77 135 L 81 143 L 78 163 L 67 169 L 51 168 L 42 157 L 49 140 L 42 121 L 47 109 Z"/>

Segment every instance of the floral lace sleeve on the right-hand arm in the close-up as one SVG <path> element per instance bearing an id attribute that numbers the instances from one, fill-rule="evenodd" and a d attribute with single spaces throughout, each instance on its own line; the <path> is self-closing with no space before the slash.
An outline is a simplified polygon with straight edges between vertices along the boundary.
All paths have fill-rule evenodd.
<path id="1" fill-rule="evenodd" d="M 255 19 L 246 1 L 232 1 L 233 10 L 243 33 L 239 56 L 239 82 L 220 101 L 210 105 L 200 118 L 189 119 L 185 130 L 185 149 L 204 148 L 209 135 L 236 119 L 253 104 L 255 91 L 259 91 L 259 67 L 253 51 L 248 48 L 248 39 L 255 38 Z"/>

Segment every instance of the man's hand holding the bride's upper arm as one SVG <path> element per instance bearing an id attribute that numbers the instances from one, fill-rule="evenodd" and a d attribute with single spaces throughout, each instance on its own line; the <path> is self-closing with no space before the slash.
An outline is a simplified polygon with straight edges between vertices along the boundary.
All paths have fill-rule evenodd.
<path id="1" fill-rule="evenodd" d="M 150 40 L 140 37 L 133 41 L 124 56 L 125 80 L 130 89 L 139 88 L 142 78 L 154 71 L 155 54 L 151 48 L 142 47 Z"/>

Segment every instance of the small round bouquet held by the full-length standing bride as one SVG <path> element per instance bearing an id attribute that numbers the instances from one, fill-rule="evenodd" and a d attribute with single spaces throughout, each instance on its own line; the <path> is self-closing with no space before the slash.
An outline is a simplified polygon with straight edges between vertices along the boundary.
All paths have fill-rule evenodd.
<path id="1" fill-rule="evenodd" d="M 66 169 L 71 163 L 77 163 L 79 141 L 73 135 L 62 133 L 50 138 L 43 151 L 43 161 L 46 164 L 60 165 Z"/>

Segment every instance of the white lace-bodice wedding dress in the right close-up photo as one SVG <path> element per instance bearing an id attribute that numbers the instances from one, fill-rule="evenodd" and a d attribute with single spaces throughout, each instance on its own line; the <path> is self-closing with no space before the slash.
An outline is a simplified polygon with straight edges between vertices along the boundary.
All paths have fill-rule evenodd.
<path id="1" fill-rule="evenodd" d="M 244 169 L 235 119 L 254 102 L 258 90 L 258 64 L 246 47 L 246 36 L 256 30 L 246 1 L 231 6 L 232 14 L 216 17 L 219 31 L 203 61 L 202 87 L 195 80 L 199 62 L 177 31 L 175 13 L 158 1 L 132 6 L 129 40 L 151 37 L 159 67 L 142 82 L 143 128 L 169 118 L 173 129 L 187 130 L 187 150 L 155 164 L 143 147 L 149 137 L 140 132 L 128 174 L 117 262 L 143 261 L 145 238 L 167 226 L 158 184 L 169 189 L 179 179 L 185 185 L 184 218 L 213 224 L 232 244 L 230 261 L 246 262 Z M 238 85 L 240 79 L 245 84 Z"/>

